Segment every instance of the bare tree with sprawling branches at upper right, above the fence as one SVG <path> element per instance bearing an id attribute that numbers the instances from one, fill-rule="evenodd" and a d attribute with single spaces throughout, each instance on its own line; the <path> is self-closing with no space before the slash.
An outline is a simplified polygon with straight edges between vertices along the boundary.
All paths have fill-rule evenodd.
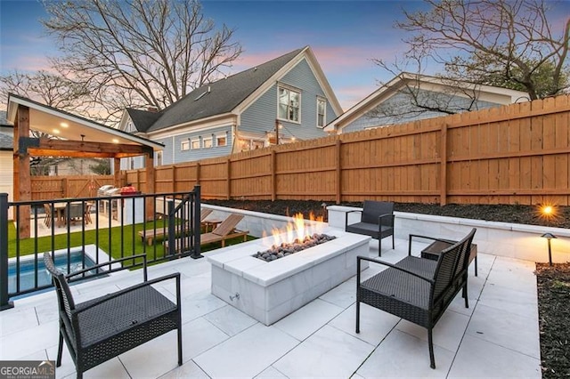
<path id="1" fill-rule="evenodd" d="M 438 77 L 457 80 L 458 84 L 501 85 L 524 91 L 532 100 L 567 89 L 570 17 L 563 15 L 555 22 L 553 17 L 560 15 L 549 12 L 549 2 L 426 3 L 430 10 L 404 12 L 405 20 L 396 23 L 396 27 L 412 33 L 404 40 L 408 50 L 399 61 L 375 60 L 382 69 L 398 73 L 407 66 L 420 73 L 426 64 L 435 63 L 445 69 Z M 414 93 L 414 88 L 406 91 Z M 436 108 L 446 109 L 445 104 Z"/>

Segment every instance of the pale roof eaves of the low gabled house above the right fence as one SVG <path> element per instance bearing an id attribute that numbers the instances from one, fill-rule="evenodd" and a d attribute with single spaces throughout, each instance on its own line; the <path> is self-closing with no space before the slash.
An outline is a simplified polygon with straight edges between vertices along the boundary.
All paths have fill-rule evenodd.
<path id="1" fill-rule="evenodd" d="M 528 93 L 508 88 L 475 85 L 468 82 L 461 83 L 459 87 L 456 80 L 403 72 L 337 117 L 324 130 L 332 133 L 338 132 L 339 129 L 364 116 L 367 112 L 376 109 L 382 102 L 401 92 L 406 86 L 436 93 L 449 93 L 453 96 L 465 98 L 468 98 L 469 93 L 476 93 L 477 101 L 488 101 L 498 105 L 530 100 Z"/>

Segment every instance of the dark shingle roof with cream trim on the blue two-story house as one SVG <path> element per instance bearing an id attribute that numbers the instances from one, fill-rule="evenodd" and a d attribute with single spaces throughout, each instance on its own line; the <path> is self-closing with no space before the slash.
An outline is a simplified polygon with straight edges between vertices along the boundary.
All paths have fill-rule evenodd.
<path id="1" fill-rule="evenodd" d="M 306 53 L 312 69 L 316 71 L 315 75 L 327 93 L 331 106 L 338 114 L 342 113 L 342 108 L 309 46 L 281 55 L 281 57 L 230 77 L 202 85 L 158 113 L 144 110 L 133 112 L 134 109 L 127 109 L 127 112 L 136 130 L 143 133 L 157 132 L 168 127 L 184 125 L 208 117 L 239 113 L 244 104 L 248 103 L 248 100 L 255 96 L 261 87 L 271 82 L 270 79 L 278 77 L 280 73 L 282 75 L 283 69 L 286 69 L 288 64 L 296 61 L 304 53 Z"/>

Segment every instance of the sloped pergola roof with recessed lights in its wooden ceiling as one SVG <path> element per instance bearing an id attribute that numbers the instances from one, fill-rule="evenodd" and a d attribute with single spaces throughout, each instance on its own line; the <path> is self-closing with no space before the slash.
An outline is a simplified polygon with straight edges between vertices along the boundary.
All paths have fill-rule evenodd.
<path id="1" fill-rule="evenodd" d="M 57 136 L 61 140 L 85 142 L 80 149 L 71 150 L 63 148 L 61 143 L 58 143 L 61 140 L 49 140 L 53 150 L 60 151 L 61 154 L 59 155 L 68 157 L 133 157 L 141 155 L 141 147 L 152 150 L 164 149 L 164 145 L 159 142 L 126 133 L 10 93 L 6 118 L 14 124 L 19 106 L 29 109 L 30 130 Z M 94 147 L 94 143 L 98 147 Z M 116 148 L 113 149 L 113 146 Z M 131 149 L 131 147 L 136 149 Z M 63 154 L 64 152 L 66 154 Z"/>

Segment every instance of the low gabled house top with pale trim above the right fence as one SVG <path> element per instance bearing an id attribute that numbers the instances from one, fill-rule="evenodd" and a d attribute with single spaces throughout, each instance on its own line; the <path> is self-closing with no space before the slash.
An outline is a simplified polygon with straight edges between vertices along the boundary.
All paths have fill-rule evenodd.
<path id="1" fill-rule="evenodd" d="M 356 132 L 521 101 L 529 101 L 528 93 L 404 72 L 333 120 L 325 131 Z"/>

